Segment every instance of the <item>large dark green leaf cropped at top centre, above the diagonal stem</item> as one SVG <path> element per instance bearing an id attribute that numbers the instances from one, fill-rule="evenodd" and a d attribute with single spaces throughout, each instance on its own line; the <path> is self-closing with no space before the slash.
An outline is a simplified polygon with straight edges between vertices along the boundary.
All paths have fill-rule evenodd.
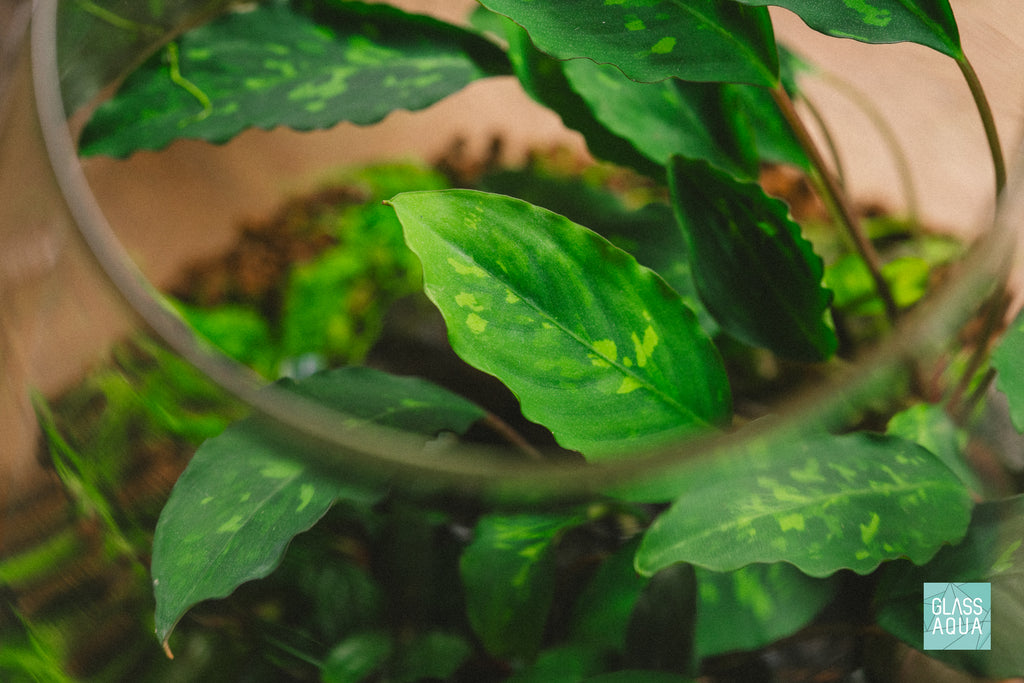
<path id="1" fill-rule="evenodd" d="M 778 55 L 766 10 L 725 0 L 481 0 L 558 59 L 611 63 L 634 81 L 773 86 Z"/>

